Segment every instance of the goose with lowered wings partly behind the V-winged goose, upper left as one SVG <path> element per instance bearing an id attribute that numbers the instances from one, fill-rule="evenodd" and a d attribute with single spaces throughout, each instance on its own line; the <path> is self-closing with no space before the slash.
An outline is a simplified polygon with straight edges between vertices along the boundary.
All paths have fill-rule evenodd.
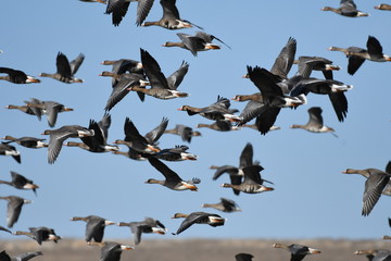
<path id="1" fill-rule="evenodd" d="M 104 107 L 105 111 L 110 111 L 114 108 L 125 96 L 129 92 L 130 87 L 138 87 L 144 89 L 149 83 L 142 74 L 137 73 L 123 73 L 115 74 L 108 71 L 102 72 L 99 76 L 112 77 L 116 80 L 113 86 L 113 90 L 108 99 L 106 105 Z M 141 101 L 144 101 L 146 94 L 137 91 L 137 95 Z"/>

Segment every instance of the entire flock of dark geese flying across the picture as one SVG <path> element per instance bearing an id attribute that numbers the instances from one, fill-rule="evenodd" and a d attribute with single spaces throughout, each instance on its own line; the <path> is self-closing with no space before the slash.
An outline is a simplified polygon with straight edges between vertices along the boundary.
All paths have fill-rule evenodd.
<path id="1" fill-rule="evenodd" d="M 114 26 L 121 25 L 131 2 L 126 0 L 84 1 L 106 4 L 105 14 L 111 15 Z M 213 40 L 217 40 L 227 48 L 230 48 L 216 36 L 203 32 L 202 27 L 180 18 L 175 0 L 160 1 L 163 9 L 163 16 L 155 22 L 146 22 L 154 1 L 138 0 L 137 2 L 137 26 L 161 26 L 165 29 L 197 27 L 200 29 L 194 35 L 178 33 L 177 36 L 180 41 L 167 41 L 163 45 L 164 47 L 179 47 L 190 51 L 194 57 L 197 57 L 200 51 L 220 49 L 220 46 L 212 42 Z M 379 4 L 375 8 L 379 10 L 391 10 L 391 5 L 388 4 Z M 358 11 L 352 0 L 342 0 L 339 8 L 325 7 L 321 10 L 332 11 L 339 15 L 349 17 L 368 16 L 367 13 Z M 366 48 L 330 47 L 329 50 L 341 51 L 346 55 L 348 73 L 351 75 L 353 75 L 366 60 L 374 62 L 391 61 L 391 57 L 382 52 L 380 41 L 374 36 L 368 37 Z M 199 124 L 198 127 L 209 127 L 219 132 L 252 127 L 260 132 L 261 135 L 266 135 L 270 130 L 278 129 L 274 124 L 282 109 L 297 109 L 302 104 L 311 103 L 311 98 L 307 99 L 307 96 L 315 94 L 328 96 L 338 121 L 343 122 L 348 116 L 348 99 L 345 92 L 350 91 L 353 86 L 333 78 L 332 71 L 340 70 L 340 67 L 332 64 L 330 60 L 320 57 L 300 57 L 295 60 L 295 51 L 297 40 L 289 38 L 287 44 L 281 48 L 270 70 L 260 66 L 247 66 L 247 74 L 243 77 L 249 78 L 253 83 L 257 92 L 237 95 L 232 98 L 235 101 L 247 102 L 245 108 L 241 112 L 231 109 L 230 100 L 220 96 L 217 97 L 217 100 L 210 100 L 210 105 L 185 104 L 178 108 L 178 110 L 187 112 L 189 116 L 199 115 L 213 122 L 212 124 Z M 65 84 L 81 84 L 84 80 L 77 78 L 76 74 L 83 65 L 85 55 L 80 53 L 70 62 L 64 53 L 59 52 L 55 58 L 55 73 L 41 73 L 39 77 L 50 77 Z M 100 76 L 112 77 L 112 91 L 108 96 L 105 107 L 102 108 L 105 113 L 100 121 L 90 120 L 88 126 L 64 125 L 54 128 L 58 117 L 61 116 L 59 114 L 73 111 L 72 108 L 67 108 L 58 101 L 39 100 L 37 98 L 31 98 L 21 105 L 9 104 L 7 109 L 20 110 L 30 116 L 36 116 L 38 120 L 41 120 L 42 115 L 46 115 L 50 128 L 46 129 L 42 134 L 49 135 L 49 141 L 46 142 L 46 139 L 27 136 L 13 137 L 8 134 L 3 137 L 5 141 L 0 144 L 0 154 L 11 156 L 16 162 L 22 163 L 17 146 L 31 149 L 45 148 L 48 150 L 48 163 L 53 164 L 59 160 L 64 146 L 79 147 L 80 149 L 94 153 L 113 152 L 115 154 L 123 154 L 131 160 L 148 161 L 151 166 L 164 176 L 164 179 L 149 178 L 146 181 L 147 184 L 162 185 L 172 190 L 197 191 L 197 185 L 201 183 L 199 177 L 184 181 L 163 161 L 194 161 L 198 159 L 198 156 L 188 152 L 189 147 L 185 145 L 173 148 L 159 147 L 159 139 L 165 134 L 179 135 L 186 142 L 190 142 L 193 137 L 201 136 L 200 132 L 192 129 L 190 126 L 177 124 L 174 128 L 168 129 L 168 119 L 163 117 L 155 128 L 142 135 L 138 130 L 135 122 L 126 117 L 124 122 L 124 138 L 116 139 L 114 144 L 108 144 L 109 128 L 112 122 L 111 110 L 129 92 L 136 92 L 141 101 L 144 101 L 146 96 L 162 100 L 188 97 L 189 94 L 182 92 L 178 90 L 178 88 L 188 73 L 189 63 L 184 61 L 175 72 L 166 76 L 163 74 L 159 61 L 156 61 L 149 51 L 140 48 L 140 58 L 138 60 L 121 59 L 116 61 L 104 61 L 102 64 L 112 66 L 111 71 L 104 71 L 100 74 Z M 298 64 L 298 72 L 294 76 L 289 77 L 288 74 L 293 64 Z M 311 77 L 313 71 L 321 71 L 325 78 Z M 0 67 L 0 73 L 2 74 L 0 79 L 13 84 L 39 84 L 41 82 L 38 77 L 30 76 L 17 69 Z M 335 129 L 332 127 L 324 125 L 321 112 L 323 110 L 319 107 L 310 108 L 308 122 L 302 125 L 294 124 L 291 128 L 302 128 L 313 133 L 333 134 Z M 248 123 L 253 120 L 255 120 L 255 123 L 249 125 Z M 79 138 L 80 141 L 67 141 L 71 138 Z M 121 146 L 126 147 L 127 152 L 121 151 Z M 227 174 L 230 183 L 224 183 L 222 187 L 231 188 L 235 195 L 240 195 L 241 192 L 260 194 L 274 190 L 273 182 L 264 179 L 261 176 L 261 172 L 264 170 L 263 166 L 260 162 L 253 161 L 253 146 L 251 142 L 244 146 L 239 157 L 239 166 L 212 165 L 211 169 L 215 170 L 213 179 L 217 179 L 222 175 Z M 360 174 L 366 177 L 362 215 L 366 216 L 370 214 L 381 195 L 391 196 L 390 169 L 391 164 L 389 163 L 384 171 L 377 169 L 348 169 L 343 172 L 345 174 Z M 0 184 L 10 185 L 16 189 L 31 189 L 34 192 L 39 188 L 39 185 L 35 184 L 31 179 L 13 171 L 11 171 L 11 181 L 0 181 Z M 266 186 L 266 184 L 269 185 Z M 48 240 L 58 243 L 61 239 L 53 228 L 45 226 L 29 227 L 28 232 L 11 232 L 9 228 L 12 228 L 20 215 L 23 214 L 22 208 L 24 204 L 30 203 L 31 201 L 17 196 L 0 197 L 0 199 L 8 201 L 8 228 L 3 226 L 0 227 L 4 233 L 28 236 L 39 245 Z M 213 208 L 220 212 L 241 211 L 234 200 L 227 198 L 222 198 L 217 203 L 204 203 L 202 207 Z M 223 226 L 226 222 L 226 219 L 219 214 L 202 211 L 188 214 L 175 213 L 173 219 L 185 219 L 173 235 L 179 235 L 194 224 L 207 224 L 215 227 Z M 103 235 L 105 226 L 117 225 L 130 227 L 136 246 L 141 243 L 142 234 L 156 233 L 164 235 L 167 233 L 164 224 L 153 217 L 146 217 L 143 221 L 117 223 L 97 215 L 74 216 L 71 220 L 86 222 L 85 240 L 88 245 L 101 247 L 102 261 L 118 261 L 123 250 L 134 249 L 134 247 L 118 243 L 104 241 Z M 297 244 L 290 246 L 275 244 L 274 247 L 289 250 L 291 252 L 291 261 L 300 261 L 306 254 L 320 253 L 317 249 Z M 360 250 L 356 253 L 365 253 L 371 256 L 374 260 L 379 261 L 391 259 L 391 251 L 386 250 L 371 252 Z M 15 257 L 14 259 L 25 261 L 40 254 L 42 254 L 40 251 L 29 252 Z M 252 258 L 253 256 L 249 253 L 239 253 L 236 256 L 238 261 L 249 261 Z M 0 261 L 3 260 L 11 260 L 5 250 L 0 253 Z"/>

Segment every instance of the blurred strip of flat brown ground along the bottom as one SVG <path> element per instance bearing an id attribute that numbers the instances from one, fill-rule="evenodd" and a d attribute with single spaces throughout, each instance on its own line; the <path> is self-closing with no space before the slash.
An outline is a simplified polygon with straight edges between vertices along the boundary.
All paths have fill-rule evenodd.
<path id="1" fill-rule="evenodd" d="M 130 240 L 121 240 L 133 246 Z M 122 254 L 122 261 L 235 261 L 235 254 L 248 252 L 254 256 L 253 261 L 289 261 L 290 256 L 283 249 L 273 248 L 273 244 L 302 244 L 321 250 L 321 254 L 306 257 L 307 261 L 366 261 L 365 257 L 354 254 L 358 249 L 389 249 L 387 240 L 343 240 L 343 239 L 307 239 L 307 240 L 214 240 L 180 239 L 148 240 L 131 251 Z M 43 243 L 39 246 L 33 240 L 0 240 L 0 250 L 14 257 L 27 251 L 42 251 L 43 256 L 35 261 L 98 261 L 99 247 L 87 246 L 83 240 L 62 239 L 59 244 Z"/>

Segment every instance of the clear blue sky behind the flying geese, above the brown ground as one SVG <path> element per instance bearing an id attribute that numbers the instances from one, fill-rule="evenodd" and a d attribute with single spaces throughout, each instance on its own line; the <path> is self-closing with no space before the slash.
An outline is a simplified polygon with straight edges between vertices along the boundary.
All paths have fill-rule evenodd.
<path id="1" fill-rule="evenodd" d="M 188 116 L 176 109 L 182 104 L 209 105 L 218 95 L 232 98 L 238 94 L 257 91 L 248 79 L 241 78 L 247 65 L 270 69 L 289 37 L 298 40 L 297 55 L 319 55 L 342 67 L 335 78 L 354 85 L 346 94 L 349 113 L 338 122 L 326 96 L 310 95 L 308 104 L 298 110 L 283 109 L 276 122 L 281 129 L 261 136 L 253 129 L 219 133 L 200 129 L 202 137 L 193 138 L 189 152 L 199 156 L 197 162 L 166 162 L 184 179 L 200 177 L 199 191 L 173 191 L 144 182 L 162 178 L 148 162 L 136 162 L 111 153 L 90 153 L 78 148 L 63 148 L 53 165 L 47 163 L 47 150 L 21 146 L 22 164 L 12 158 L 0 157 L 1 179 L 10 179 L 15 171 L 40 185 L 38 196 L 31 191 L 1 186 L 1 196 L 18 195 L 34 200 L 23 208 L 13 231 L 30 226 L 50 226 L 63 237 L 84 238 L 85 223 L 71 222 L 75 215 L 97 214 L 109 220 L 141 221 L 152 216 L 175 232 L 180 220 L 172 220 L 175 212 L 210 211 L 201 209 L 205 202 L 217 202 L 220 197 L 234 199 L 243 210 L 222 213 L 225 226 L 193 226 L 179 236 L 144 236 L 143 238 L 380 238 L 390 233 L 387 217 L 391 215 L 391 199 L 382 196 L 369 216 L 361 216 L 365 178 L 343 175 L 348 167 L 384 169 L 390 158 L 391 114 L 389 74 L 391 64 L 366 61 L 358 72 L 346 73 L 348 61 L 340 52 L 327 50 L 330 46 L 365 48 L 368 35 L 381 42 L 384 53 L 391 53 L 391 12 L 375 10 L 379 1 L 356 1 L 369 17 L 349 18 L 331 12 L 321 12 L 324 5 L 339 5 L 339 1 L 177 1 L 182 18 L 203 26 L 228 44 L 222 50 L 201 52 L 197 58 L 179 48 L 164 48 L 167 40 L 176 41 L 176 33 L 193 34 L 194 29 L 166 30 L 160 27 L 137 27 L 135 3 L 118 27 L 104 14 L 105 5 L 74 1 L 5 1 L 1 4 L 1 66 L 25 71 L 38 76 L 55 72 L 59 51 L 70 60 L 78 53 L 86 55 L 77 77 L 84 84 L 66 85 L 50 78 L 41 84 L 13 85 L 1 82 L 0 107 L 23 104 L 38 98 L 54 100 L 75 111 L 59 115 L 56 126 L 78 124 L 88 126 L 90 119 L 100 120 L 111 94 L 111 79 L 99 77 L 109 66 L 103 60 L 128 58 L 140 60 L 139 49 L 149 51 L 169 75 L 182 60 L 190 64 L 179 89 L 189 92 L 184 99 L 157 100 L 147 97 L 141 103 L 136 94 L 129 94 L 112 111 L 109 141 L 124 138 L 124 121 L 130 117 L 140 133 L 155 127 L 163 116 L 168 127 L 210 123 L 201 116 Z M 147 21 L 159 20 L 162 9 L 155 1 Z M 290 76 L 295 73 L 293 66 Z M 313 74 L 321 77 L 318 72 Z M 307 109 L 317 105 L 324 110 L 325 124 L 336 129 L 330 134 L 311 134 L 290 129 L 291 124 L 305 124 Z M 244 103 L 232 101 L 232 108 L 242 110 Z M 0 136 L 41 137 L 48 129 L 46 119 L 0 108 Z M 219 187 L 228 176 L 212 181 L 212 164 L 239 163 L 239 154 L 247 142 L 254 147 L 254 160 L 264 166 L 263 177 L 275 183 L 275 190 L 258 195 L 235 196 Z M 165 135 L 162 148 L 184 144 L 178 136 Z M 126 148 L 123 148 L 126 150 Z M 5 225 L 7 202 L 0 201 L 0 225 Z M 129 238 L 124 227 L 108 227 L 108 238 Z M 4 233 L 1 238 L 11 238 Z"/>

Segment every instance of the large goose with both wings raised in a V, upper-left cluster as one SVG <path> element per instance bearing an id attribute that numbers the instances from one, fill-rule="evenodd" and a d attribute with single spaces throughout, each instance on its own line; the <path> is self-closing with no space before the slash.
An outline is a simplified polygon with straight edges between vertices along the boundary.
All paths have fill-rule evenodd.
<path id="1" fill-rule="evenodd" d="M 143 49 L 140 49 L 140 52 L 143 70 L 146 72 L 147 78 L 151 84 L 151 88 L 147 89 L 135 85 L 129 86 L 128 90 L 140 91 L 162 100 L 184 98 L 189 96 L 186 92 L 177 90 L 189 70 L 189 64 L 187 62 L 182 62 L 180 67 L 166 78 L 162 73 L 162 70 L 156 60 Z"/>

